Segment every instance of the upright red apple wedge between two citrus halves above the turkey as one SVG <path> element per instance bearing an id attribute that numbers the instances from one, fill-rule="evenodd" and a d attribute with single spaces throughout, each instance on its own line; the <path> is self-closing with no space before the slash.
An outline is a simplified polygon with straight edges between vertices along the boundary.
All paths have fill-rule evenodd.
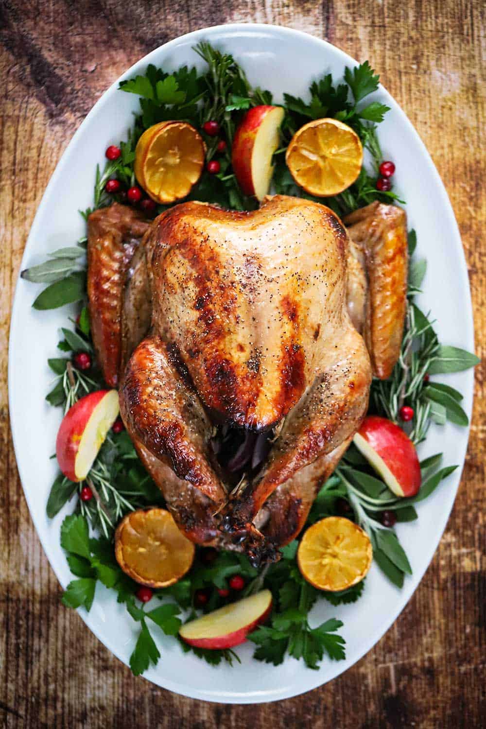
<path id="1" fill-rule="evenodd" d="M 273 152 L 278 147 L 281 106 L 254 106 L 243 117 L 232 146 L 232 165 L 245 195 L 263 200 L 270 188 Z"/>

